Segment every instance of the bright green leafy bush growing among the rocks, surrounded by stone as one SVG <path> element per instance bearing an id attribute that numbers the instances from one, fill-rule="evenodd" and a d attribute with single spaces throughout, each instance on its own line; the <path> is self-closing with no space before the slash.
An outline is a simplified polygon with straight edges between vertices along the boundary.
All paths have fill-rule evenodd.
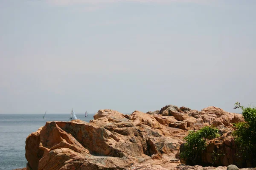
<path id="1" fill-rule="evenodd" d="M 180 158 L 192 161 L 196 164 L 198 155 L 206 149 L 206 139 L 213 139 L 218 136 L 218 129 L 211 126 L 205 126 L 198 131 L 191 131 L 184 139 L 186 143 L 183 151 L 180 153 Z"/>

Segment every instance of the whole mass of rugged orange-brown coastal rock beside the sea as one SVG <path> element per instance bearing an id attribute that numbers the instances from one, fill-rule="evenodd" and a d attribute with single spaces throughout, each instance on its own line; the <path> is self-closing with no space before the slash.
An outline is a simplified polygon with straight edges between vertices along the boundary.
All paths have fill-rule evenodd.
<path id="1" fill-rule="evenodd" d="M 233 163 L 232 123 L 242 116 L 220 108 L 202 111 L 167 105 L 160 111 L 134 111 L 124 115 L 99 110 L 90 123 L 47 122 L 26 139 L 27 170 L 208 170 L 206 167 L 178 166 L 178 153 L 188 130 L 216 125 L 222 136 L 209 142 L 202 161 L 212 163 L 209 155 L 222 150 L 220 165 Z M 209 168 L 211 169 L 211 168 Z M 212 169 L 214 169 L 212 167 Z M 224 170 L 224 167 L 216 169 Z"/>

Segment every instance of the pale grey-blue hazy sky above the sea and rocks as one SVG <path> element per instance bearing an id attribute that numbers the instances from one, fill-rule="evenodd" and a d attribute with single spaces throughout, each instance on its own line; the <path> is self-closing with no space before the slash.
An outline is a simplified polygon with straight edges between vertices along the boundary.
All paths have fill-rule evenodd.
<path id="1" fill-rule="evenodd" d="M 255 0 L 0 0 L 0 113 L 256 105 L 255 8 Z"/>

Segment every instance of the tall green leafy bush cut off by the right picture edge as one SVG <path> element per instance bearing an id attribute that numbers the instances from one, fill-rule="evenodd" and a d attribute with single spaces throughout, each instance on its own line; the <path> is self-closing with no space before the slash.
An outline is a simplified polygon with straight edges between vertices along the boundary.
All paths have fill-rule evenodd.
<path id="1" fill-rule="evenodd" d="M 241 108 L 245 122 L 235 124 L 233 132 L 237 147 L 238 165 L 256 166 L 256 108 L 244 108 L 239 102 L 235 108 Z"/>

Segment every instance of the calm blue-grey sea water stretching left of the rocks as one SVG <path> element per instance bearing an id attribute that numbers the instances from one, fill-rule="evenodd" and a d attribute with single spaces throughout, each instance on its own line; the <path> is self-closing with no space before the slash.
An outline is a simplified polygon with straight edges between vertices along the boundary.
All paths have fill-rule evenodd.
<path id="1" fill-rule="evenodd" d="M 77 119 L 89 122 L 94 114 L 77 114 Z M 26 167 L 25 141 L 30 133 L 48 121 L 70 121 L 69 114 L 0 114 L 0 170 Z"/>

